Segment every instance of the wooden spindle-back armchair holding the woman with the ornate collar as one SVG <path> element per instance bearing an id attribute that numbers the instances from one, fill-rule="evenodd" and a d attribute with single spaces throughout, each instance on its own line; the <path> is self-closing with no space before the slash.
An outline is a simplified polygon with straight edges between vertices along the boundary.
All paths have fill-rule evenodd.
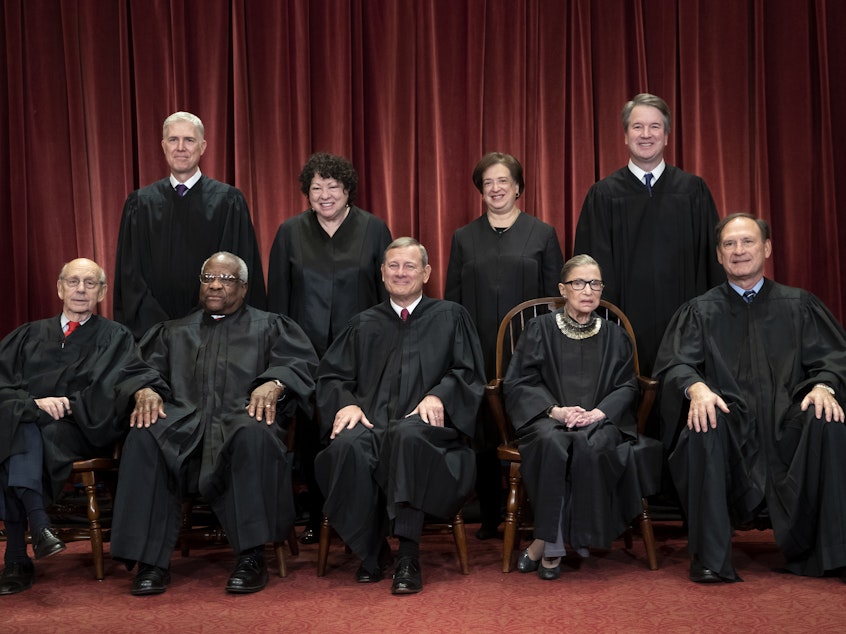
<path id="1" fill-rule="evenodd" d="M 509 463 L 508 475 L 508 497 L 506 500 L 505 513 L 505 534 L 502 548 L 502 571 L 511 572 L 513 563 L 512 555 L 515 547 L 519 546 L 521 532 L 530 532 L 531 526 L 523 524 L 523 509 L 525 508 L 526 492 L 523 487 L 523 480 L 520 475 L 520 451 L 517 446 L 514 426 L 505 411 L 505 403 L 502 394 L 502 382 L 505 370 L 511 355 L 517 345 L 517 339 L 523 332 L 526 323 L 538 315 L 557 310 L 564 305 L 563 297 L 541 297 L 523 302 L 512 308 L 499 326 L 497 333 L 496 347 L 496 378 L 491 381 L 485 390 L 485 397 L 499 430 L 501 444 L 497 448 L 497 456 L 502 461 Z M 634 366 L 637 375 L 638 387 L 640 389 L 640 402 L 637 409 L 638 433 L 643 433 L 652 405 L 655 401 L 655 394 L 658 389 L 658 382 L 655 379 L 641 376 L 640 366 L 637 358 L 637 344 L 635 343 L 634 330 L 625 316 L 617 306 L 602 300 L 596 311 L 601 317 L 618 323 L 626 329 L 632 339 L 634 346 Z M 640 445 L 640 447 L 638 447 Z M 638 461 L 638 472 L 653 468 L 652 464 L 657 460 L 654 468 L 660 470 L 660 444 L 651 439 L 639 439 L 635 444 L 635 456 L 643 456 Z M 649 517 L 649 506 L 646 499 L 643 502 L 643 512 L 640 515 L 640 532 L 646 546 L 646 554 L 650 570 L 658 569 L 658 557 L 655 550 L 655 537 L 652 531 L 652 520 Z M 624 535 L 626 548 L 632 547 L 631 531 Z"/>

